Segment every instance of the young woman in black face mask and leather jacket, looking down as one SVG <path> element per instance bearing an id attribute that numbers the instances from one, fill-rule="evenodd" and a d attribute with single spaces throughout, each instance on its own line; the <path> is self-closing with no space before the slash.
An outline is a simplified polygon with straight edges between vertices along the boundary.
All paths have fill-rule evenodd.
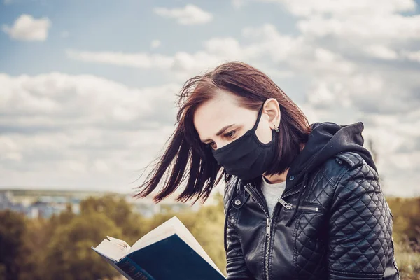
<path id="1" fill-rule="evenodd" d="M 309 125 L 264 73 L 228 62 L 183 86 L 176 130 L 137 195 L 168 172 L 156 202 L 185 180 L 179 201 L 206 200 L 224 178 L 228 279 L 399 279 L 362 131 Z"/>

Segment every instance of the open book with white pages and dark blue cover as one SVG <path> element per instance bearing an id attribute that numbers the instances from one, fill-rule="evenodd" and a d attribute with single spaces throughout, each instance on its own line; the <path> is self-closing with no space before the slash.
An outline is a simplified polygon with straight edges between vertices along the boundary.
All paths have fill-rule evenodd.
<path id="1" fill-rule="evenodd" d="M 92 249 L 127 279 L 225 280 L 176 216 L 148 232 L 133 246 L 120 239 L 107 238 Z"/>

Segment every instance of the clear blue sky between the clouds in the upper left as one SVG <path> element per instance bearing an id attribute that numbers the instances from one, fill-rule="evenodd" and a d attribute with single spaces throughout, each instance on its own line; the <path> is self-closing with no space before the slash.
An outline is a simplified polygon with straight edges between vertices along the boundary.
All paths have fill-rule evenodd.
<path id="1" fill-rule="evenodd" d="M 194 52 L 202 48 L 202 41 L 211 37 L 240 36 L 245 25 L 262 25 L 267 20 L 286 33 L 293 33 L 293 16 L 281 9 L 271 10 L 258 4 L 235 8 L 229 1 L 195 1 L 203 10 L 214 13 L 211 25 L 176 25 L 173 20 L 153 13 L 153 8 L 179 8 L 188 1 L 25 1 L 12 0 L 1 6 L 1 24 L 10 25 L 22 13 L 34 18 L 48 17 L 52 26 L 48 40 L 28 44 L 10 40 L 4 32 L 0 36 L 3 53 L 0 71 L 13 75 L 36 75 L 50 71 L 92 73 L 118 80 L 127 85 L 158 85 L 158 73 L 148 70 L 116 71 L 113 66 L 85 64 L 66 57 L 66 50 L 157 52 L 173 55 L 179 50 Z M 69 36 L 62 37 L 63 32 Z M 151 50 L 151 41 L 160 39 L 162 45 Z"/>

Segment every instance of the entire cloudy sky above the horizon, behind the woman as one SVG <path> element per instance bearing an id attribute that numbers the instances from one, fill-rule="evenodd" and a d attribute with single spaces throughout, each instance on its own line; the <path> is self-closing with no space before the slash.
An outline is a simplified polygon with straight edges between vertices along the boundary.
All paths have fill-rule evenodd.
<path id="1" fill-rule="evenodd" d="M 420 195 L 419 1 L 1 1 L 0 188 L 132 190 L 183 82 L 241 60 Z"/>

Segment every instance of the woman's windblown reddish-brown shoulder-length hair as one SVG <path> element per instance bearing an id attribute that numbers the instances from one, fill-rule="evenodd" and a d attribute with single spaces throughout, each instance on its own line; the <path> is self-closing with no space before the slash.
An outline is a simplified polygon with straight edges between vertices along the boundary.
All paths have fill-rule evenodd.
<path id="1" fill-rule="evenodd" d="M 195 76 L 183 85 L 178 101 L 177 127 L 170 137 L 169 146 L 147 180 L 138 188 L 134 197 L 146 197 L 165 177 L 162 189 L 153 200 L 160 202 L 174 193 L 181 183 L 188 182 L 177 201 L 186 202 L 195 198 L 204 202 L 211 190 L 229 174 L 218 166 L 211 150 L 200 141 L 193 124 L 195 110 L 200 104 L 212 99 L 216 90 L 226 90 L 239 97 L 240 106 L 258 111 L 265 100 L 274 98 L 279 102 L 281 120 L 279 141 L 276 143 L 276 157 L 267 174 L 281 174 L 290 167 L 293 159 L 300 153 L 300 146 L 306 143 L 310 132 L 309 122 L 299 107 L 267 75 L 244 62 L 226 62 L 203 76 Z M 168 140 L 168 141 L 169 141 Z M 174 164 L 172 164 L 174 162 Z M 223 169 L 221 175 L 217 175 Z M 168 174 L 167 174 L 168 175 Z"/>

